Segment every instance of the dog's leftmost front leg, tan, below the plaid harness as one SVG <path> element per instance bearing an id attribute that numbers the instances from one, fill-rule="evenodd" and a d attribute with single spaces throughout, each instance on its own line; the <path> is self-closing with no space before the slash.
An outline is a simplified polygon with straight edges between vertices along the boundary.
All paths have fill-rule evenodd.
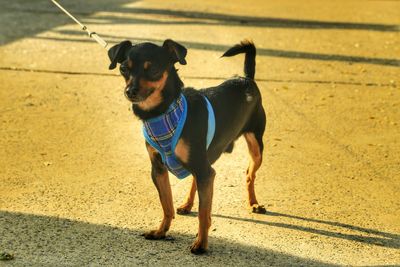
<path id="1" fill-rule="evenodd" d="M 144 234 L 144 237 L 146 239 L 163 239 L 175 215 L 171 185 L 169 183 L 168 170 L 163 164 L 160 154 L 148 143 L 146 143 L 146 147 L 151 160 L 151 178 L 153 179 L 160 197 L 164 218 L 158 230 L 147 232 Z"/>

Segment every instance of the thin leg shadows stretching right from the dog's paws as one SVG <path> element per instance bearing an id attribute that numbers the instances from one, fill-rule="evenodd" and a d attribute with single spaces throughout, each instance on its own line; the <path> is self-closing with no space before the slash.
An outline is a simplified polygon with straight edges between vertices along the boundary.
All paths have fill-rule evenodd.
<path id="1" fill-rule="evenodd" d="M 319 220 L 319 219 L 305 218 L 305 217 L 301 217 L 301 216 L 295 216 L 295 215 L 284 214 L 284 213 L 279 213 L 279 212 L 267 212 L 265 215 L 267 218 L 266 220 L 257 220 L 257 219 L 252 219 L 252 218 L 242 218 L 242 217 L 228 216 L 228 215 L 222 215 L 222 214 L 212 214 L 212 216 L 216 217 L 216 218 L 223 218 L 223 219 L 228 219 L 228 220 L 236 220 L 236 221 L 263 224 L 263 225 L 272 226 L 272 227 L 286 228 L 286 229 L 303 231 L 303 232 L 308 232 L 308 233 L 317 234 L 317 235 L 341 238 L 341 239 L 346 239 L 346 240 L 350 240 L 350 241 L 357 241 L 357 242 L 375 245 L 375 246 L 400 249 L 400 235 L 398 235 L 398 234 L 387 233 L 387 232 L 383 232 L 383 231 L 379 231 L 379 230 L 363 228 L 363 227 L 340 223 L 340 222 L 332 222 L 332 221 L 325 221 L 325 220 Z M 194 216 L 197 216 L 197 212 L 191 212 L 190 214 L 187 214 L 185 216 L 193 216 L 194 217 Z M 297 222 L 306 221 L 306 222 L 316 223 L 319 226 L 319 228 L 323 228 L 324 225 L 325 226 L 326 225 L 334 226 L 334 227 L 337 227 L 338 230 L 332 231 L 332 230 L 317 229 L 317 228 L 312 228 L 309 226 L 299 225 L 300 223 L 289 224 L 289 223 L 268 221 L 269 216 L 294 219 L 295 222 L 296 221 Z M 351 233 L 343 233 L 343 232 L 351 232 Z"/>

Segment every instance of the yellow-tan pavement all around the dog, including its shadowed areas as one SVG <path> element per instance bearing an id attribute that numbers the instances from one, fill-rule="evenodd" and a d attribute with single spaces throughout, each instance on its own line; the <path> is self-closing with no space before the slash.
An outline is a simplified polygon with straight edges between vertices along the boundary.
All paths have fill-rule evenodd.
<path id="1" fill-rule="evenodd" d="M 215 165 L 210 253 L 189 253 L 195 215 L 144 240 L 161 207 L 122 79 L 50 1 L 2 1 L 0 265 L 400 265 L 399 1 L 62 3 L 111 44 L 183 43 L 196 87 L 240 74 L 219 56 L 254 40 L 269 213 L 247 210 L 240 139 Z M 177 206 L 190 180 L 171 182 Z"/>

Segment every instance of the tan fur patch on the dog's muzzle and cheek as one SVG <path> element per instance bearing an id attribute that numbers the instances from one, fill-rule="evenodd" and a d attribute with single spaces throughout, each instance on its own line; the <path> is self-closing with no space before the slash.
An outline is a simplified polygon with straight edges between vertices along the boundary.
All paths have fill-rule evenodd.
<path id="1" fill-rule="evenodd" d="M 158 81 L 147 81 L 141 79 L 139 81 L 139 94 L 145 94 L 146 91 L 152 90 L 154 88 L 154 92 L 149 95 L 144 101 L 138 104 L 139 108 L 142 110 L 150 110 L 156 106 L 158 106 L 162 101 L 162 90 L 164 89 L 165 83 L 168 78 L 168 72 L 164 71 L 162 77 Z"/>

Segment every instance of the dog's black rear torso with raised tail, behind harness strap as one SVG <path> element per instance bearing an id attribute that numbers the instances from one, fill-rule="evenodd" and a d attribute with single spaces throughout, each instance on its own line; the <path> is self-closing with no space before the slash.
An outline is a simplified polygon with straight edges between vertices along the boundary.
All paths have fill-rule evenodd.
<path id="1" fill-rule="evenodd" d="M 260 90 L 254 81 L 256 48 L 249 41 L 226 51 L 223 57 L 245 53 L 245 77 L 234 77 L 222 84 L 200 90 L 210 100 L 215 113 L 216 131 L 208 150 L 210 162 L 223 152 L 232 152 L 234 141 L 244 133 L 254 133 L 263 149 L 262 135 L 266 125 Z"/>

